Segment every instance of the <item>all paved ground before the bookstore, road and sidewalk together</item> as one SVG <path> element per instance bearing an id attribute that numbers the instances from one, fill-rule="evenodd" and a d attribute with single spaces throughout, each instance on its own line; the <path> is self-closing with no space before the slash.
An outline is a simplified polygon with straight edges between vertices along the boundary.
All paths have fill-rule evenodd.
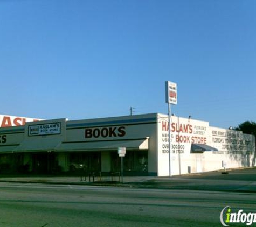
<path id="1" fill-rule="evenodd" d="M 256 168 L 228 172 L 124 177 L 123 183 L 0 175 L 0 226 L 222 226 L 227 206 L 256 213 Z"/>

